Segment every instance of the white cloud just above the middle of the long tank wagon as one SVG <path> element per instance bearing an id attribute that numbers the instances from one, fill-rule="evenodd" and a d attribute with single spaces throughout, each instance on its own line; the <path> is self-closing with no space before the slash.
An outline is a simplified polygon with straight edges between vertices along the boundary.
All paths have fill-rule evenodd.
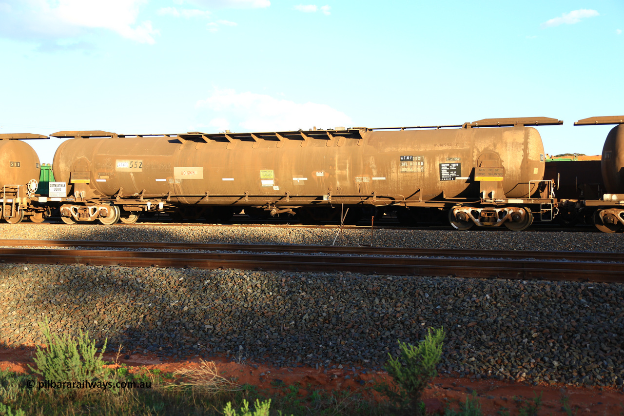
<path id="1" fill-rule="evenodd" d="M 329 107 L 314 102 L 297 103 L 254 92 L 217 90 L 197 108 L 207 109 L 213 118 L 210 126 L 248 131 L 285 131 L 348 126 L 351 118 Z M 233 128 L 232 128 L 233 127 Z"/>

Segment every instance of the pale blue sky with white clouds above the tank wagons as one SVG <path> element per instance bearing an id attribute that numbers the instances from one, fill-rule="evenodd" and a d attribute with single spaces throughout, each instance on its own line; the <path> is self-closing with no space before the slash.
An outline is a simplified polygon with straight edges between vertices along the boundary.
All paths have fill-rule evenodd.
<path id="1" fill-rule="evenodd" d="M 0 0 L 0 132 L 545 116 L 548 153 L 600 154 L 573 122 L 624 114 L 623 31 L 621 0 Z"/>

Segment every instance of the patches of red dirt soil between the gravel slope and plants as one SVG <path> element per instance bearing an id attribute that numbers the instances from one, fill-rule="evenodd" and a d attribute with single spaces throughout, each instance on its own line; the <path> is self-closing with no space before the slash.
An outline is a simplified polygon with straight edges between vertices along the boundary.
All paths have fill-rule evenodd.
<path id="1" fill-rule="evenodd" d="M 19 349 L 0 348 L 0 369 L 9 369 L 14 372 L 28 372 L 28 364 L 34 365 L 31 357 L 34 349 L 23 347 Z M 152 354 L 134 354 L 130 359 L 124 355 L 105 354 L 104 359 L 117 364 L 125 364 L 133 369 L 159 369 L 162 372 L 175 372 L 183 368 L 199 367 L 197 359 L 182 362 L 163 362 Z M 313 367 L 273 367 L 266 364 L 236 364 L 222 357 L 210 359 L 217 366 L 217 372 L 225 378 L 237 377 L 238 384 L 255 385 L 258 392 L 266 397 L 281 395 L 283 390 L 275 387 L 274 380 L 281 380 L 282 386 L 300 383 L 300 395 L 305 397 L 314 390 L 348 390 L 356 392 L 365 387 L 371 387 L 372 381 L 388 379 L 385 372 L 371 374 L 355 373 L 348 369 L 323 369 Z M 264 374 L 264 375 L 261 375 Z M 348 375 L 349 379 L 344 377 Z M 336 377 L 334 377 L 336 376 Z M 273 383 L 272 383 L 273 382 Z M 508 410 L 511 416 L 518 415 L 522 405 L 533 404 L 536 395 L 542 394 L 542 405 L 539 415 L 566 415 L 562 399 L 568 397 L 568 406 L 573 415 L 624 415 L 624 390 L 611 388 L 587 388 L 568 385 L 529 385 L 509 382 L 507 380 L 469 380 L 457 378 L 455 375 L 436 377 L 431 387 L 425 391 L 424 399 L 427 411 L 442 414 L 444 407 L 451 406 L 459 409 L 460 402 L 466 402 L 467 395 L 472 392 L 478 395 L 481 410 L 484 415 L 499 415 L 499 410 Z M 376 399 L 381 399 L 374 393 Z"/>

